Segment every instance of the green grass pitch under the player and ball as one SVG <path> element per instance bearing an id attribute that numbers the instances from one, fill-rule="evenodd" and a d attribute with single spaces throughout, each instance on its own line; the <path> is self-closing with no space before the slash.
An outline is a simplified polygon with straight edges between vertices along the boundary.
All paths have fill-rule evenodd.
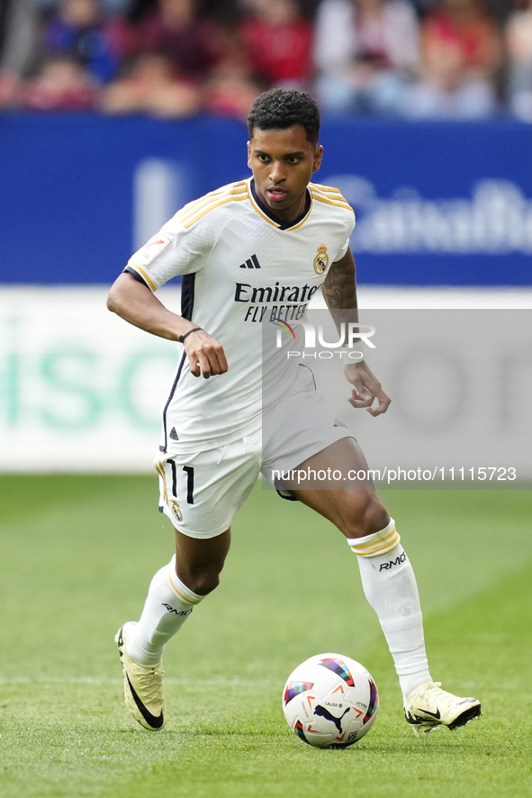
<path id="1" fill-rule="evenodd" d="M 170 558 L 144 476 L 0 478 L 0 795 L 98 798 L 530 796 L 529 491 L 387 491 L 416 570 L 432 675 L 483 716 L 417 739 L 356 558 L 307 508 L 257 486 L 233 527 L 221 587 L 165 653 L 170 720 L 122 705 L 118 626 L 137 619 Z M 379 687 L 370 733 L 305 746 L 284 680 L 322 651 L 360 659 Z"/>

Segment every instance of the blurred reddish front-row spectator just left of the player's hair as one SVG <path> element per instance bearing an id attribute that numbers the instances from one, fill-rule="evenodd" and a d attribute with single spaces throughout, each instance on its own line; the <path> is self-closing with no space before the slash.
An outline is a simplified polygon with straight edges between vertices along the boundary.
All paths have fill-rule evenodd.
<path id="1" fill-rule="evenodd" d="M 245 57 L 228 56 L 216 65 L 205 84 L 205 110 L 245 121 L 249 108 L 266 87 L 249 77 Z"/>

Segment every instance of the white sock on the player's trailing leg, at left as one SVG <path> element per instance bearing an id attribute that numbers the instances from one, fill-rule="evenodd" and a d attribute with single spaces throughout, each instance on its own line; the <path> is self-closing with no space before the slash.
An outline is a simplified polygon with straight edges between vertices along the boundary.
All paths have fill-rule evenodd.
<path id="1" fill-rule="evenodd" d="M 165 643 L 181 629 L 203 595 L 192 592 L 176 575 L 176 557 L 162 567 L 149 585 L 148 598 L 128 636 L 128 654 L 140 665 L 156 665 Z"/>

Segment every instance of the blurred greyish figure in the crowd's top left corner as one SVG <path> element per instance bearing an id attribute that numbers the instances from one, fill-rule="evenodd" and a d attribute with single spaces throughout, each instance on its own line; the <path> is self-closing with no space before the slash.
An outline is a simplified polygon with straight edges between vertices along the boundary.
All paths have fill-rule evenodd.
<path id="1" fill-rule="evenodd" d="M 38 51 L 38 0 L 0 0 L 0 106 L 11 104 Z"/>

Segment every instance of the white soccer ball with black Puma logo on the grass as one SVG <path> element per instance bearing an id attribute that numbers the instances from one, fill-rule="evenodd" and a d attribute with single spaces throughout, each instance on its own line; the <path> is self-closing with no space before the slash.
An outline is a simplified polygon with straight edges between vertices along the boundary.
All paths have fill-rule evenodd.
<path id="1" fill-rule="evenodd" d="M 316 748 L 347 748 L 364 737 L 377 716 L 379 694 L 356 659 L 317 654 L 305 659 L 284 685 L 290 728 Z"/>

